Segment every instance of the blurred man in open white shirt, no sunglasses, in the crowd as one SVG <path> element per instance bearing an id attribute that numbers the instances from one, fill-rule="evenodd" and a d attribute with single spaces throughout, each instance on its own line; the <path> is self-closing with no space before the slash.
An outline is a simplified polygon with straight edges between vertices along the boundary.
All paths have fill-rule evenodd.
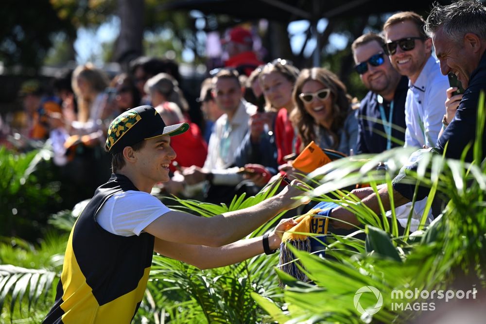
<path id="1" fill-rule="evenodd" d="M 248 131 L 250 115 L 256 107 L 244 102 L 243 90 L 238 75 L 233 70 L 223 69 L 213 78 L 212 94 L 224 114 L 216 120 L 214 131 L 209 138 L 208 156 L 203 168 L 192 166 L 183 170 L 184 181 L 196 185 L 203 181 L 210 183 L 208 202 L 230 202 L 235 187 L 243 181 L 233 167 L 234 153 Z"/>

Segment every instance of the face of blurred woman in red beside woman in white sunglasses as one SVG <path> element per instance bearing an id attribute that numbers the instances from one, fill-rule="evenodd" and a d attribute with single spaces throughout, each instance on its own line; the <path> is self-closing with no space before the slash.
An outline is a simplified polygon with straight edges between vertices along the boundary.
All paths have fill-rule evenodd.
<path id="1" fill-rule="evenodd" d="M 272 107 L 280 109 L 293 106 L 292 90 L 294 85 L 281 73 L 274 71 L 262 75 L 261 88 Z"/>

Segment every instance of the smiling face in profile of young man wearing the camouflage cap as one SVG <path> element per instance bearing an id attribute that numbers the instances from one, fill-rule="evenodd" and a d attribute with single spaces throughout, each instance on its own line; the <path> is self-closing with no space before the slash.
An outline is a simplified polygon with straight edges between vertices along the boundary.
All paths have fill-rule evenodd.
<path id="1" fill-rule="evenodd" d="M 140 182 L 147 188 L 152 188 L 157 182 L 169 181 L 169 165 L 176 154 L 170 145 L 169 135 L 157 136 L 145 141 L 143 148 L 133 151 L 133 154 L 136 157 L 135 163 Z"/>

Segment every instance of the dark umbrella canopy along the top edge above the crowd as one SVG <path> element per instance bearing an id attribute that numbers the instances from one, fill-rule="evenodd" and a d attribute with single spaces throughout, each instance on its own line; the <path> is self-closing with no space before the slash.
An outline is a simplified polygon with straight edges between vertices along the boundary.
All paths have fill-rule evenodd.
<path id="1" fill-rule="evenodd" d="M 452 1 L 438 1 L 443 4 Z M 395 11 L 429 11 L 433 1 L 376 1 L 376 0 L 174 0 L 161 6 L 161 10 L 190 11 L 226 14 L 240 19 L 294 21 L 331 17 L 356 17 Z"/>

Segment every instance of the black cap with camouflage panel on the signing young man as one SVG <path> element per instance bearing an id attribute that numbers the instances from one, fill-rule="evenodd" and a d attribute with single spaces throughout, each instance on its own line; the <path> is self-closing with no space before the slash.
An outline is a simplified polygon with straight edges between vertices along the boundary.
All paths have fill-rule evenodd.
<path id="1" fill-rule="evenodd" d="M 111 154 L 121 152 L 125 146 L 157 136 L 176 136 L 186 132 L 186 122 L 166 126 L 154 107 L 139 106 L 123 112 L 108 128 L 106 149 Z"/>

